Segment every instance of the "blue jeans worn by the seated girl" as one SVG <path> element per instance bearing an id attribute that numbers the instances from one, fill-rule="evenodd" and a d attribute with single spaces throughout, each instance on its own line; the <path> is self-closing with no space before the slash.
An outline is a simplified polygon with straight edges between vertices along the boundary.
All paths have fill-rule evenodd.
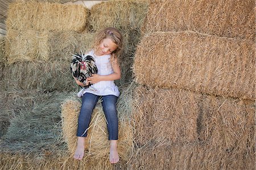
<path id="1" fill-rule="evenodd" d="M 100 96 L 94 95 L 92 93 L 85 93 L 82 96 L 82 106 L 79 114 L 77 136 L 86 137 L 87 129 L 90 124 L 90 119 L 92 117 L 93 109 Z M 117 118 L 117 96 L 108 95 L 102 96 L 102 106 L 104 114 L 107 120 L 107 126 L 109 131 L 109 140 L 118 139 L 118 118 Z"/>

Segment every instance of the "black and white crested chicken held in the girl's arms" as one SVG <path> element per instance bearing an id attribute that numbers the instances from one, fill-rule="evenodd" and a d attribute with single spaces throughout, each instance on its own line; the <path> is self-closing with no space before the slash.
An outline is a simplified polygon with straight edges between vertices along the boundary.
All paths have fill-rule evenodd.
<path id="1" fill-rule="evenodd" d="M 97 74 L 97 72 L 98 69 L 92 56 L 85 56 L 82 52 L 72 55 L 71 73 L 73 77 L 77 78 L 82 84 L 86 84 L 86 78 L 91 77 L 92 74 Z M 88 88 L 90 85 L 89 83 L 84 86 L 84 88 Z"/>

